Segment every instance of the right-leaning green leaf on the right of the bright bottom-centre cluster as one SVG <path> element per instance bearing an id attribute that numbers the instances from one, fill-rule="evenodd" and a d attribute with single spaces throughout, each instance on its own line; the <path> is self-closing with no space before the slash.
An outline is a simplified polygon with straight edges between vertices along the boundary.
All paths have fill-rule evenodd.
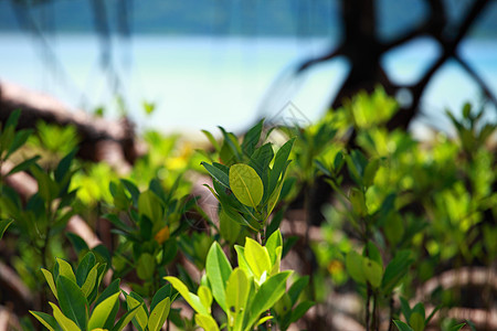
<path id="1" fill-rule="evenodd" d="M 269 309 L 285 293 L 286 279 L 292 271 L 283 271 L 269 277 L 261 287 L 252 299 L 248 312 L 248 325 L 253 325 L 261 313 Z"/>

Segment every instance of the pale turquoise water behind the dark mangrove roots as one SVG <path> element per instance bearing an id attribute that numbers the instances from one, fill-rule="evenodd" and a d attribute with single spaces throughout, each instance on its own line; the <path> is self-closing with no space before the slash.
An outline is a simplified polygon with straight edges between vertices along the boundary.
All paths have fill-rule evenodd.
<path id="1" fill-rule="evenodd" d="M 108 116 L 117 116 L 110 81 L 99 65 L 98 40 L 56 35 L 46 42 L 51 55 L 38 40 L 0 34 L 0 79 L 49 93 L 72 108 L 91 110 L 106 105 Z M 197 132 L 221 125 L 239 130 L 258 115 L 274 116 L 288 102 L 313 120 L 326 111 L 348 71 L 347 62 L 337 58 L 298 79 L 285 78 L 293 65 L 328 50 L 331 45 L 326 39 L 136 35 L 130 42 L 113 43 L 113 63 L 121 82 L 118 89 L 141 129 Z M 420 40 L 390 53 L 383 63 L 394 81 L 412 83 L 438 51 L 430 41 Z M 459 51 L 497 93 L 497 41 L 468 41 Z M 271 88 L 275 85 L 279 87 Z M 272 102 L 263 103 L 268 93 Z M 156 104 L 151 116 L 145 115 L 144 100 Z M 465 102 L 477 100 L 476 85 L 457 64 L 450 63 L 426 89 L 422 104 L 429 117 L 423 120 L 433 121 L 446 108 L 458 109 Z M 494 111 L 489 109 L 490 119 L 495 119 Z"/>

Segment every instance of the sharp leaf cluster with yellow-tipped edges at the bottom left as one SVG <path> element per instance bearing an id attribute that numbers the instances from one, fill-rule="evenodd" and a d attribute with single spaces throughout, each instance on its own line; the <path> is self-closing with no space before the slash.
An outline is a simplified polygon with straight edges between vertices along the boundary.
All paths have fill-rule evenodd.
<path id="1" fill-rule="evenodd" d="M 170 286 L 157 291 L 150 309 L 139 295 L 120 291 L 120 279 L 114 280 L 98 293 L 106 266 L 97 263 L 93 253 L 87 253 L 82 258 L 76 273 L 63 259 L 56 260 L 53 273 L 43 268 L 41 270 L 60 307 L 50 302 L 53 317 L 39 311 L 31 313 L 50 331 L 120 331 L 131 321 L 138 330 L 159 331 L 168 318 L 171 307 Z M 127 312 L 117 318 L 121 292 L 126 297 Z"/>

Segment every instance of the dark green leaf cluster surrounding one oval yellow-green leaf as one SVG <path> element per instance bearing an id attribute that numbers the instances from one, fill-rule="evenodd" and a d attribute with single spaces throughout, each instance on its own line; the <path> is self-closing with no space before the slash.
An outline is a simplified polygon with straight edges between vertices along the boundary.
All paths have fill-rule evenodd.
<path id="1" fill-rule="evenodd" d="M 223 162 L 202 163 L 214 179 L 213 189 L 208 188 L 220 202 L 223 214 L 261 233 L 264 242 L 264 237 L 271 235 L 271 231 L 265 234 L 267 218 L 289 189 L 285 186 L 285 179 L 294 139 L 275 154 L 271 142 L 260 143 L 263 121 L 247 131 L 242 143 L 233 134 L 221 130 L 224 137 L 222 146 L 205 132 Z"/>

